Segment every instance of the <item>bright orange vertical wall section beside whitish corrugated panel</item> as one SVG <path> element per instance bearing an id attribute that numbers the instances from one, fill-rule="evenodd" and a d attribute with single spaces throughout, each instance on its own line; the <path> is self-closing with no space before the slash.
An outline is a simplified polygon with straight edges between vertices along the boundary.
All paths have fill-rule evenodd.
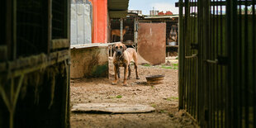
<path id="1" fill-rule="evenodd" d="M 107 0 L 92 2 L 92 43 L 107 43 Z"/>

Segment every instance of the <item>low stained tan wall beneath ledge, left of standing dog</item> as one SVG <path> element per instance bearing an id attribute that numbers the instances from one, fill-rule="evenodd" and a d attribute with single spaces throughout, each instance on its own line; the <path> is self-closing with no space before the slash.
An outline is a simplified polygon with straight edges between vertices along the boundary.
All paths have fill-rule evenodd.
<path id="1" fill-rule="evenodd" d="M 71 50 L 70 78 L 107 78 L 107 46 Z"/>

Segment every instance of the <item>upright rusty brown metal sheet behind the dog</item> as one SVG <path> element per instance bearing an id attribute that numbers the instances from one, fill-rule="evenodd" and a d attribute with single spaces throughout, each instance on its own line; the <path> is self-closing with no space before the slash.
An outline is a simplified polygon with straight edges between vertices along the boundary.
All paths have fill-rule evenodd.
<path id="1" fill-rule="evenodd" d="M 166 24 L 140 23 L 138 35 L 139 64 L 165 63 Z"/>

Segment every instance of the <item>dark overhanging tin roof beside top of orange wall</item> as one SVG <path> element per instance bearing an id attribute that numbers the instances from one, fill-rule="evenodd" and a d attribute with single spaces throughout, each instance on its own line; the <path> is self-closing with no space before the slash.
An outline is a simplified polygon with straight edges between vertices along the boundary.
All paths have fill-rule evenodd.
<path id="1" fill-rule="evenodd" d="M 129 0 L 107 0 L 107 7 L 111 18 L 126 17 L 128 6 Z"/>

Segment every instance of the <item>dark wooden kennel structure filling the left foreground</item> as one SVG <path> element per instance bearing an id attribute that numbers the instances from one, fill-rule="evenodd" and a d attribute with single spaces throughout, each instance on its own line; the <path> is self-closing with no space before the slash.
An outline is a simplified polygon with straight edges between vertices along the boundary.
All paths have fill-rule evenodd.
<path id="1" fill-rule="evenodd" d="M 69 127 L 69 0 L 3 0 L 0 127 Z"/>

